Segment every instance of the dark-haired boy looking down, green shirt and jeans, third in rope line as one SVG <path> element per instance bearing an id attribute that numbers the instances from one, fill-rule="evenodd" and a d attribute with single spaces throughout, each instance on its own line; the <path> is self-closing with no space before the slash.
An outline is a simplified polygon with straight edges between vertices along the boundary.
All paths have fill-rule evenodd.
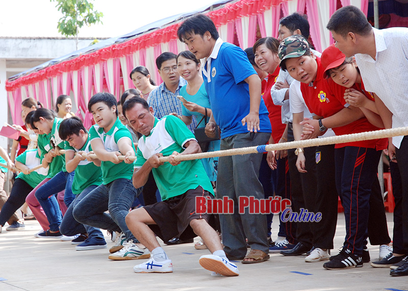
<path id="1" fill-rule="evenodd" d="M 92 159 L 93 154 L 89 134 L 78 117 L 68 118 L 61 122 L 60 137 L 65 140 L 65 162 L 68 172 L 75 172 L 72 193 L 75 198 L 70 203 L 60 225 L 64 236 L 81 236 L 74 240 L 79 243 L 76 250 L 94 250 L 106 248 L 104 235 L 99 228 L 79 223 L 73 217 L 75 206 L 92 190 L 102 184 L 100 160 Z M 82 155 L 86 154 L 87 157 Z"/>

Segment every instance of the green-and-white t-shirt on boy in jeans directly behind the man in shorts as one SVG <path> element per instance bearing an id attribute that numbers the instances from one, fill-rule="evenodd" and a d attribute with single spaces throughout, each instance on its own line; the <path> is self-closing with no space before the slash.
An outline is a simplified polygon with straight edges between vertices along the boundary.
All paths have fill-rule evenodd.
<path id="1" fill-rule="evenodd" d="M 104 143 L 105 150 L 110 153 L 119 152 L 118 141 L 121 138 L 129 138 L 130 142 L 132 143 L 132 148 L 135 150 L 135 146 L 132 142 L 132 135 L 120 122 L 119 118 L 116 119 L 115 124 L 112 126 L 109 132 L 105 132 L 104 128 L 95 124 L 89 129 L 89 135 L 91 141 L 95 138 L 100 138 Z M 109 161 L 102 161 L 100 167 L 102 169 L 102 181 L 104 185 L 107 185 L 120 178 L 129 180 L 132 179 L 133 164 L 126 164 L 124 161 L 119 164 L 114 164 Z"/>

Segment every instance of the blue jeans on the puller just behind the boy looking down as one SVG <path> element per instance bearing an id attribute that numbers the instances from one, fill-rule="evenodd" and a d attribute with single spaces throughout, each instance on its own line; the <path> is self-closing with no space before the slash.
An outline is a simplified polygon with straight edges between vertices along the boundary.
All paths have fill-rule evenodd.
<path id="1" fill-rule="evenodd" d="M 69 175 L 73 176 L 73 172 L 60 171 L 35 192 L 35 197 L 44 210 L 51 231 L 58 231 L 62 221 L 62 214 L 56 196 L 58 192 L 65 189 Z"/>

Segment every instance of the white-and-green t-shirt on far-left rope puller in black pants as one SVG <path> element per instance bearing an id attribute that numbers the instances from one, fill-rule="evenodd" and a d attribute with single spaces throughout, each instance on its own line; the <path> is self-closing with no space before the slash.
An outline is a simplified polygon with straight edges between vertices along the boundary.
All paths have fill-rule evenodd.
<path id="1" fill-rule="evenodd" d="M 41 164 L 37 149 L 25 150 L 21 155 L 16 157 L 16 161 L 28 166 L 30 169 Z M 42 180 L 46 178 L 47 173 L 48 168 L 39 168 L 28 175 L 21 172 L 17 175 L 17 178 L 24 180 L 31 187 L 35 188 Z"/>

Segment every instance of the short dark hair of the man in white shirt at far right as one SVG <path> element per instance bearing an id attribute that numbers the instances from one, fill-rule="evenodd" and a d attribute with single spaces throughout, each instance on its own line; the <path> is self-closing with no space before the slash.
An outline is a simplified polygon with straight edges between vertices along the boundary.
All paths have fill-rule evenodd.
<path id="1" fill-rule="evenodd" d="M 367 36 L 372 31 L 372 26 L 364 13 L 352 5 L 342 7 L 333 13 L 326 27 L 343 38 L 346 38 L 349 32 Z"/>

